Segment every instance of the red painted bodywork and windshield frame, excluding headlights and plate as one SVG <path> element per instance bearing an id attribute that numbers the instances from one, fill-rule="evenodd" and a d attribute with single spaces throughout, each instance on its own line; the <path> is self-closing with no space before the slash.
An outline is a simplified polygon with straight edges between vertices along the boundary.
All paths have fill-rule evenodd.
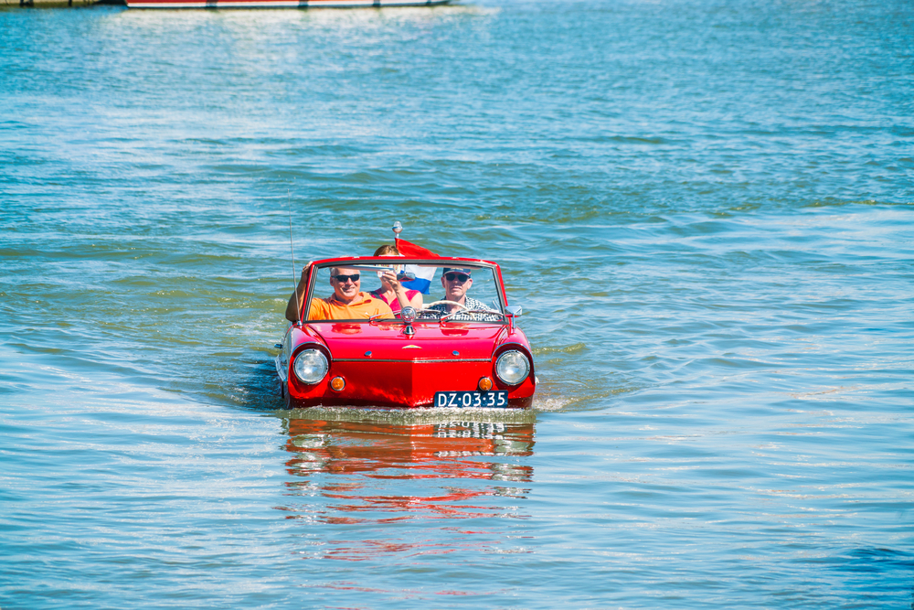
<path id="1" fill-rule="evenodd" d="M 506 304 L 501 273 L 493 262 L 471 259 L 446 259 L 483 263 L 495 271 L 498 290 Z M 328 264 L 367 264 L 390 259 L 361 257 L 328 259 L 312 263 L 306 275 L 307 305 L 314 292 L 314 269 Z M 441 263 L 441 259 L 430 263 Z M 528 408 L 536 391 L 533 353 L 524 332 L 510 318 L 505 323 L 479 323 L 438 320 L 416 321 L 415 334 L 408 335 L 400 320 L 376 322 L 313 321 L 289 326 L 277 357 L 277 370 L 288 408 L 323 406 L 430 407 L 436 391 L 478 391 L 480 379 L 493 381 L 493 390 L 508 391 L 508 407 Z M 303 349 L 324 353 L 329 370 L 313 385 L 299 380 L 293 370 L 295 356 Z M 530 360 L 530 373 L 516 385 L 506 385 L 494 371 L 495 359 L 507 349 L 516 349 Z M 345 380 L 335 391 L 330 381 Z"/>

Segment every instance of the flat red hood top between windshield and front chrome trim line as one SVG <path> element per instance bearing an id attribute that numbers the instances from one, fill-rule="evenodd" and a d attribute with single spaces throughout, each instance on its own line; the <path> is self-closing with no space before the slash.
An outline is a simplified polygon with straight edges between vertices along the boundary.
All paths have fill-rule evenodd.
<path id="1" fill-rule="evenodd" d="M 324 340 L 335 360 L 366 359 L 369 351 L 373 360 L 491 359 L 507 333 L 502 325 L 456 322 L 416 324 L 411 337 L 402 324 L 309 322 L 308 326 Z"/>

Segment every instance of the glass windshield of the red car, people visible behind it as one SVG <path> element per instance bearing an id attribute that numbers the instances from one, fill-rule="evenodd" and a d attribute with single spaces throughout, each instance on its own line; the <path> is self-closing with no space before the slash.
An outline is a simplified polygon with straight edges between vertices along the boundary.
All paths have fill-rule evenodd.
<path id="1" fill-rule="evenodd" d="M 465 262 L 321 265 L 314 279 L 312 298 L 305 306 L 307 319 L 399 320 L 397 296 L 389 284 L 381 282 L 380 276 L 385 270 L 398 273 L 402 278 L 410 305 L 421 304 L 421 307 L 415 307 L 417 323 L 505 322 L 494 269 Z M 388 308 L 392 313 L 388 313 Z"/>

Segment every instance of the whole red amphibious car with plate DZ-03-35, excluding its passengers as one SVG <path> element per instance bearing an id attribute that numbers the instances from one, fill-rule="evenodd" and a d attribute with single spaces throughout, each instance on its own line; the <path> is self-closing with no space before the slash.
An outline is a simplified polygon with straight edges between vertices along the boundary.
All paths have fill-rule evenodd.
<path id="1" fill-rule="evenodd" d="M 322 316 L 324 310 L 313 309 L 312 301 L 334 294 L 331 270 L 340 267 L 358 270 L 361 292 L 379 287 L 380 273 L 395 268 L 425 282 L 430 294 L 421 295 L 421 307 L 404 307 L 395 317 L 308 319 L 309 312 Z M 448 269 L 472 278 L 463 305 L 439 296 L 445 293 L 442 275 Z M 533 353 L 515 326 L 521 308 L 508 305 L 501 269 L 494 262 L 346 257 L 312 262 L 303 277 L 300 321 L 289 326 L 276 357 L 288 408 L 526 409 L 532 404 L 537 385 Z M 458 276 L 450 277 L 453 282 Z"/>

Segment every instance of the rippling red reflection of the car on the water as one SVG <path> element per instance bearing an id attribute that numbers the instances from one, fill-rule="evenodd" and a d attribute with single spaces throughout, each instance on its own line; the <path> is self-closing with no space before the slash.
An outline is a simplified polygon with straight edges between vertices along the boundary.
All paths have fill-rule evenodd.
<path id="1" fill-rule="evenodd" d="M 292 498 L 277 508 L 287 519 L 330 529 L 308 530 L 321 541 L 304 556 L 359 561 L 467 547 L 523 551 L 505 550 L 509 539 L 524 538 L 506 530 L 523 529 L 517 519 L 525 517 L 521 503 L 529 490 L 517 484 L 533 478 L 533 467 L 523 462 L 533 454 L 534 423 L 289 418 L 283 424 Z M 480 459 L 486 457 L 496 459 Z M 466 519 L 475 521 L 472 530 Z M 377 538 L 394 523 L 396 539 Z M 409 535 L 403 527 L 420 532 Z"/>

